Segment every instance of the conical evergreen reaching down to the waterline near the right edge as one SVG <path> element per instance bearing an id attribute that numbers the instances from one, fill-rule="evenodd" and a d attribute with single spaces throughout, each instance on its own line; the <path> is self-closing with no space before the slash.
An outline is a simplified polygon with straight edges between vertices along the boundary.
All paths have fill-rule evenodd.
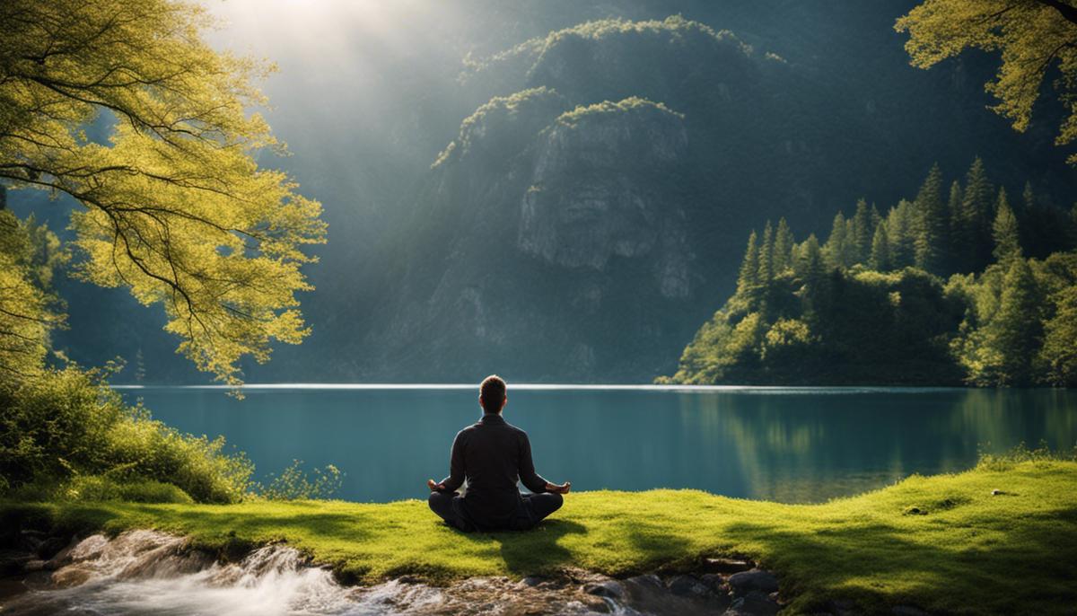
<path id="1" fill-rule="evenodd" d="M 1039 349 L 1043 298 L 1029 262 L 1013 258 L 1003 279 L 998 311 L 987 325 L 984 367 L 994 382 L 1003 386 L 1030 384 L 1033 360 Z"/>

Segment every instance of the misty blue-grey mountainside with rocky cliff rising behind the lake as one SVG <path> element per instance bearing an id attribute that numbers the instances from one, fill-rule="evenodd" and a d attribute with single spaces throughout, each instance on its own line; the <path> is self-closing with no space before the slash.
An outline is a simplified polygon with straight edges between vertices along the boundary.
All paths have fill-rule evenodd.
<path id="1" fill-rule="evenodd" d="M 910 67 L 894 23 L 913 4 L 387 0 L 372 6 L 393 44 L 356 22 L 347 45 L 300 45 L 267 15 L 266 117 L 295 154 L 272 162 L 323 204 L 330 242 L 307 268 L 310 335 L 243 378 L 649 381 L 733 291 L 767 219 L 822 235 L 842 205 L 896 204 L 934 162 L 977 153 L 1011 201 L 1029 181 L 1068 208 L 1061 106 L 1018 134 L 985 109 L 995 58 Z M 66 201 L 25 199 L 10 207 L 54 208 L 64 236 Z M 961 271 L 987 263 L 969 258 Z M 71 359 L 123 356 L 117 381 L 204 379 L 159 312 L 56 285 Z"/>

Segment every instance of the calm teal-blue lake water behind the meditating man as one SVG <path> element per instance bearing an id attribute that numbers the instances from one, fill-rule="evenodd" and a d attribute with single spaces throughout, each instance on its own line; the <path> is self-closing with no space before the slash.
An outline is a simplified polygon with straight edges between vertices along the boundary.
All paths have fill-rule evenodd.
<path id="1" fill-rule="evenodd" d="M 817 502 L 967 468 L 978 448 L 1077 444 L 1077 392 L 1058 390 L 509 387 L 505 418 L 531 435 L 538 472 L 577 490 Z M 260 478 L 293 459 L 336 464 L 346 474 L 337 495 L 354 501 L 425 498 L 426 478 L 448 472 L 453 435 L 480 414 L 470 386 L 124 395 L 185 432 L 223 434 Z"/>

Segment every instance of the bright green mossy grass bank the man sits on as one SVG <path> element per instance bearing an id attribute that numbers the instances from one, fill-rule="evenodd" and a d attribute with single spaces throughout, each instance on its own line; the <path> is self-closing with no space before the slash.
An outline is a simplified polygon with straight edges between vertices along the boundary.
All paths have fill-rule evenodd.
<path id="1" fill-rule="evenodd" d="M 359 582 L 563 566 L 625 575 L 690 569 L 702 556 L 725 554 L 777 572 L 794 612 L 843 598 L 869 608 L 1065 613 L 1077 604 L 1075 488 L 1077 462 L 1041 461 L 911 477 L 822 505 L 698 491 L 584 492 L 569 495 L 536 531 L 474 535 L 435 522 L 422 501 L 8 502 L 2 513 L 5 521 L 37 517 L 83 531 L 156 528 L 214 547 L 283 540 Z"/>

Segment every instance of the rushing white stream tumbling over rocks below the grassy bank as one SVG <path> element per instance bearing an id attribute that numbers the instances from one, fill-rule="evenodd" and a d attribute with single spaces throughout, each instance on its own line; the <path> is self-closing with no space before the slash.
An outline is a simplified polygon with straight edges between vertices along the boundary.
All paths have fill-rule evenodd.
<path id="1" fill-rule="evenodd" d="M 46 575 L 44 573 L 40 574 Z M 373 615 L 632 613 L 577 589 L 541 589 L 507 578 L 472 578 L 447 588 L 393 579 L 345 587 L 284 545 L 268 545 L 221 564 L 186 540 L 155 531 L 93 535 L 70 563 L 0 605 L 0 613 L 174 615 Z M 611 610 L 612 608 L 612 610 Z M 537 612 L 536 612 L 537 611 Z"/>

